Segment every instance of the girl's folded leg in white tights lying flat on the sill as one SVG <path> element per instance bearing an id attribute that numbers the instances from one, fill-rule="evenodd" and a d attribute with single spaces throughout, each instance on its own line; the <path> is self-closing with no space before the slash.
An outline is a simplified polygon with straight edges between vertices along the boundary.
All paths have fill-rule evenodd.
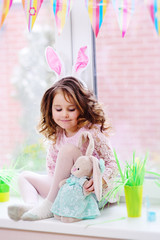
<path id="1" fill-rule="evenodd" d="M 13 204 L 8 207 L 8 215 L 13 220 L 21 216 L 38 203 L 39 195 L 45 198 L 50 189 L 51 178 L 33 172 L 23 172 L 18 179 L 19 189 L 25 204 Z"/>

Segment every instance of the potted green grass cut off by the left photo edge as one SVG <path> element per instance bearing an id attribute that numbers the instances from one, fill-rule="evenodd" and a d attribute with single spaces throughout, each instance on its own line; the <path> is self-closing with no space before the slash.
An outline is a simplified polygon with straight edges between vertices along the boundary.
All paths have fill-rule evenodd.
<path id="1" fill-rule="evenodd" d="M 9 200 L 10 189 L 16 191 L 15 182 L 18 174 L 15 164 L 10 166 L 3 166 L 0 169 L 0 202 L 6 202 Z"/>

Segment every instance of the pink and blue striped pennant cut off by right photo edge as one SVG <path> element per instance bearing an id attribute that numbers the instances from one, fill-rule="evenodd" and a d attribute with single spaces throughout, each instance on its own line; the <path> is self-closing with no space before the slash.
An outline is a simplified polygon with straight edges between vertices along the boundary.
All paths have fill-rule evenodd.
<path id="1" fill-rule="evenodd" d="M 160 0 L 145 0 L 157 33 L 160 35 Z"/>

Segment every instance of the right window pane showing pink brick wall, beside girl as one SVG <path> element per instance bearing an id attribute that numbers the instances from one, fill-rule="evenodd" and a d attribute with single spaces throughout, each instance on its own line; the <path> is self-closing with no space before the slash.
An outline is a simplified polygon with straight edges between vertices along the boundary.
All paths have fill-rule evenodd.
<path id="1" fill-rule="evenodd" d="M 144 4 L 124 38 L 110 4 L 96 39 L 97 87 L 112 122 L 111 138 L 123 162 L 149 152 L 147 168 L 160 169 L 160 38 Z"/>

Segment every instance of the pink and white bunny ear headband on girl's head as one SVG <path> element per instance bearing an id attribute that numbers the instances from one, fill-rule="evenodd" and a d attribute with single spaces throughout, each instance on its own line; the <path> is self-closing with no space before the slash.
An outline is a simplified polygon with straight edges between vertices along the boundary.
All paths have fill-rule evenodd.
<path id="1" fill-rule="evenodd" d="M 78 80 L 82 82 L 84 87 L 87 88 L 86 83 L 80 79 L 80 74 L 86 69 L 89 64 L 89 58 L 86 54 L 86 50 L 87 46 L 81 47 L 79 49 L 78 56 L 75 64 L 72 67 L 72 73 L 70 74 L 70 76 L 78 78 Z M 66 76 L 62 60 L 60 59 L 56 51 L 50 46 L 48 46 L 46 49 L 46 60 L 49 67 L 52 69 L 53 72 L 55 72 L 57 76 L 56 81 Z"/>

